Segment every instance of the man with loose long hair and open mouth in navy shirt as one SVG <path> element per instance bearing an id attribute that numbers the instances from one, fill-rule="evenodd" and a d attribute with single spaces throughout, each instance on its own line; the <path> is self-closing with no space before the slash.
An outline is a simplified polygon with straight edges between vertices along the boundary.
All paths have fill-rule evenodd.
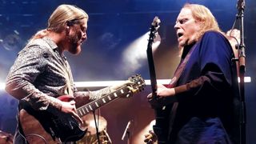
<path id="1" fill-rule="evenodd" d="M 164 124 L 154 126 L 158 143 L 238 143 L 238 75 L 230 42 L 210 10 L 198 4 L 182 7 L 174 29 L 181 62 L 172 84 L 158 85 L 157 99 L 148 95 L 152 106 L 164 105 L 158 113 L 170 110 Z"/>

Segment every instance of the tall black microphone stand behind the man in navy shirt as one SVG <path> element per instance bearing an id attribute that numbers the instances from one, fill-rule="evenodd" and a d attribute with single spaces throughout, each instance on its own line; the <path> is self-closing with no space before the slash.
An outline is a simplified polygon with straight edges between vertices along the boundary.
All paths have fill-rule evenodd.
<path id="1" fill-rule="evenodd" d="M 240 18 L 240 44 L 238 48 L 238 64 L 239 64 L 239 88 L 240 88 L 240 144 L 246 144 L 246 102 L 245 102 L 245 72 L 246 72 L 246 54 L 244 43 L 244 10 L 245 0 L 238 0 L 238 18 Z"/>

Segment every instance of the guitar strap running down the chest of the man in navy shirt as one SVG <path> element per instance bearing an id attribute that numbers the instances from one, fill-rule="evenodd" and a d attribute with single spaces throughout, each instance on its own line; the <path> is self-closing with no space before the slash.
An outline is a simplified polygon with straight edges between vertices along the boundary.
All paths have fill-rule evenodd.
<path id="1" fill-rule="evenodd" d="M 186 63 L 189 61 L 190 56 L 193 53 L 197 44 L 198 44 L 198 42 L 196 44 L 194 44 L 194 46 L 192 46 L 189 53 L 186 54 L 186 57 L 184 58 L 184 60 L 178 65 L 178 68 L 174 72 L 174 77 L 171 79 L 170 84 L 167 86 L 168 88 L 176 86 L 176 84 L 178 82 L 178 78 L 180 78 L 180 76 L 182 75 L 182 72 L 183 72 L 184 68 L 186 67 Z M 170 134 L 171 134 L 172 127 L 173 127 L 173 124 L 174 124 L 174 118 L 175 118 L 175 115 L 176 115 L 177 108 L 178 108 L 178 102 L 174 102 L 174 104 L 172 106 L 172 109 L 170 110 L 168 140 L 170 140 Z"/>

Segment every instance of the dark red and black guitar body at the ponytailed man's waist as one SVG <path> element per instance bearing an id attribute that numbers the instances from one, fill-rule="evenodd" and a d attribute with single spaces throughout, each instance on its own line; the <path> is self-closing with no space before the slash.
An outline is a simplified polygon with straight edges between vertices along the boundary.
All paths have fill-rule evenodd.
<path id="1" fill-rule="evenodd" d="M 86 134 L 70 114 L 62 112 L 50 114 L 26 108 L 20 110 L 19 120 L 29 143 L 74 142 Z"/>

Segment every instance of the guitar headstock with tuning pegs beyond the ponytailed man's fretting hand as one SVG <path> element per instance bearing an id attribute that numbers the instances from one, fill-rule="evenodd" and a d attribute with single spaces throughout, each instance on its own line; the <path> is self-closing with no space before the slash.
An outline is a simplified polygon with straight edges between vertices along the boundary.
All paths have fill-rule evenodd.
<path id="1" fill-rule="evenodd" d="M 134 90 L 139 90 L 139 91 L 144 90 L 144 87 L 146 86 L 146 84 L 141 74 L 134 74 L 128 79 L 130 80 L 130 82 L 134 83 L 133 85 L 131 85 L 131 87 Z"/>

